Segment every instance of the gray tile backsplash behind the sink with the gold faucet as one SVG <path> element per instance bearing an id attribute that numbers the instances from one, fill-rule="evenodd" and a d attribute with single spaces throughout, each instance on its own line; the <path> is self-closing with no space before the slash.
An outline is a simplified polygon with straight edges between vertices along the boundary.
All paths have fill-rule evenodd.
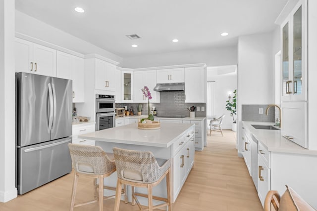
<path id="1" fill-rule="evenodd" d="M 275 122 L 275 107 L 271 107 L 268 110 L 268 115 L 265 115 L 267 106 L 242 105 L 242 121 Z M 263 114 L 259 114 L 259 108 L 263 108 Z"/>

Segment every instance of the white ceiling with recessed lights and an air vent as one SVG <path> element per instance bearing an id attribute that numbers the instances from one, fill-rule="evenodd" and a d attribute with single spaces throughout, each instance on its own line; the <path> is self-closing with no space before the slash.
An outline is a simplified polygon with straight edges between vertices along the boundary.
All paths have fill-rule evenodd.
<path id="1" fill-rule="evenodd" d="M 236 45 L 238 36 L 273 30 L 286 2 L 15 0 L 17 10 L 121 57 Z M 75 12 L 77 6 L 85 13 Z M 142 39 L 129 40 L 130 34 Z M 171 42 L 174 38 L 179 42 Z"/>

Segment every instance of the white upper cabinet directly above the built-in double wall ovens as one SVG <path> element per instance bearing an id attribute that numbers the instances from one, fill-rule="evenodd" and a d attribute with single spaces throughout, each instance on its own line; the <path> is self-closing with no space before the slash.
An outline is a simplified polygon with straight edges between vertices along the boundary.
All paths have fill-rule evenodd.
<path id="1" fill-rule="evenodd" d="M 95 71 L 95 88 L 115 91 L 115 65 L 96 59 Z"/>

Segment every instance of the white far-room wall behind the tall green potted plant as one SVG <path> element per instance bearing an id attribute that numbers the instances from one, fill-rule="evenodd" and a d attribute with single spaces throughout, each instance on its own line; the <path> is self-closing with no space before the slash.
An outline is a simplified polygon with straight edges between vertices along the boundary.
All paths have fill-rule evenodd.
<path id="1" fill-rule="evenodd" d="M 219 67 L 221 68 L 221 67 Z M 216 69 L 212 70 L 216 71 Z M 225 74 L 220 76 L 212 76 L 209 74 L 211 70 L 207 69 L 207 81 L 214 81 L 214 116 L 216 118 L 220 117 L 222 114 L 225 114 L 225 117 L 222 122 L 223 129 L 231 129 L 233 120 L 230 116 L 230 112 L 227 111 L 226 101 L 228 100 L 228 92 L 232 92 L 237 88 L 237 75 L 234 74 Z M 208 122 L 209 124 L 209 122 Z"/>

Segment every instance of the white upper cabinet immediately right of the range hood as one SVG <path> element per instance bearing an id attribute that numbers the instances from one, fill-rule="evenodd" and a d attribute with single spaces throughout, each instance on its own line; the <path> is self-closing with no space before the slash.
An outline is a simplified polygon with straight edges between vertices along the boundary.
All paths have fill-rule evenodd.
<path id="1" fill-rule="evenodd" d="M 206 68 L 185 68 L 185 103 L 205 103 L 206 83 Z"/>

